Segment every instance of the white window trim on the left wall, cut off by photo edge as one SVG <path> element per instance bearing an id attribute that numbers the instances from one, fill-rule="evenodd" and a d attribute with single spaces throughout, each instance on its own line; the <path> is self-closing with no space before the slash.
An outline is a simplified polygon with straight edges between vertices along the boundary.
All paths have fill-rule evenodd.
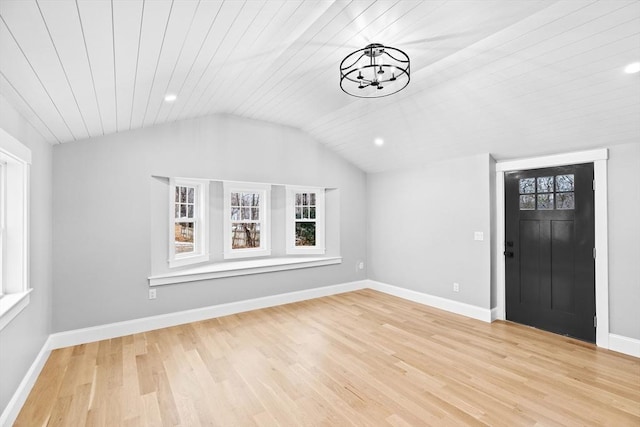
<path id="1" fill-rule="evenodd" d="M 2 251 L 0 330 L 29 304 L 29 172 L 31 150 L 0 129 L 0 162 L 4 164 L 5 247 Z M 10 225 L 9 225 L 10 224 Z M 9 228 L 10 227 L 10 228 Z"/>

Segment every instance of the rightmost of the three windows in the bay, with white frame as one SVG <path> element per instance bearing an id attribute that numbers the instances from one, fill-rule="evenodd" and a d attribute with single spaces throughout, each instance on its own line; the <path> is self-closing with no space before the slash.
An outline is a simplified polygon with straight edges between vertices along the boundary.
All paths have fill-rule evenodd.
<path id="1" fill-rule="evenodd" d="M 324 254 L 324 188 L 287 187 L 287 254 Z"/>

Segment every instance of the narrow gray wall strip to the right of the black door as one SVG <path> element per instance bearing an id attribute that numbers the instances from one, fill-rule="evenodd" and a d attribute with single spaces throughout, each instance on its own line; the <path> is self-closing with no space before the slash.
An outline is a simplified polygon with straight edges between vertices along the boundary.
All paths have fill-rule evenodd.
<path id="1" fill-rule="evenodd" d="M 609 330 L 640 340 L 640 143 L 609 148 Z"/>

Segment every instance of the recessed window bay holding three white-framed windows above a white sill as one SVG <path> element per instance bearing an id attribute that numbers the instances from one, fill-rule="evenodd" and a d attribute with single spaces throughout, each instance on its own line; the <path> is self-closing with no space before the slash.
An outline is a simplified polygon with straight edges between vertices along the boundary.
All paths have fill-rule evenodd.
<path id="1" fill-rule="evenodd" d="M 154 177 L 149 285 L 340 264 L 340 228 L 331 226 L 339 222 L 339 195 L 323 187 Z"/>

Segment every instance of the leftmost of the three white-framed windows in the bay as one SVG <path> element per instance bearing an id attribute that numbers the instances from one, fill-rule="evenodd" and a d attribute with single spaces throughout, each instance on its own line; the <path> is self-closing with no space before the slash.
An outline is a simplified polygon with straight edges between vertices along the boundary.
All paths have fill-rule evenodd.
<path id="1" fill-rule="evenodd" d="M 169 266 L 209 260 L 209 181 L 170 180 Z"/>

